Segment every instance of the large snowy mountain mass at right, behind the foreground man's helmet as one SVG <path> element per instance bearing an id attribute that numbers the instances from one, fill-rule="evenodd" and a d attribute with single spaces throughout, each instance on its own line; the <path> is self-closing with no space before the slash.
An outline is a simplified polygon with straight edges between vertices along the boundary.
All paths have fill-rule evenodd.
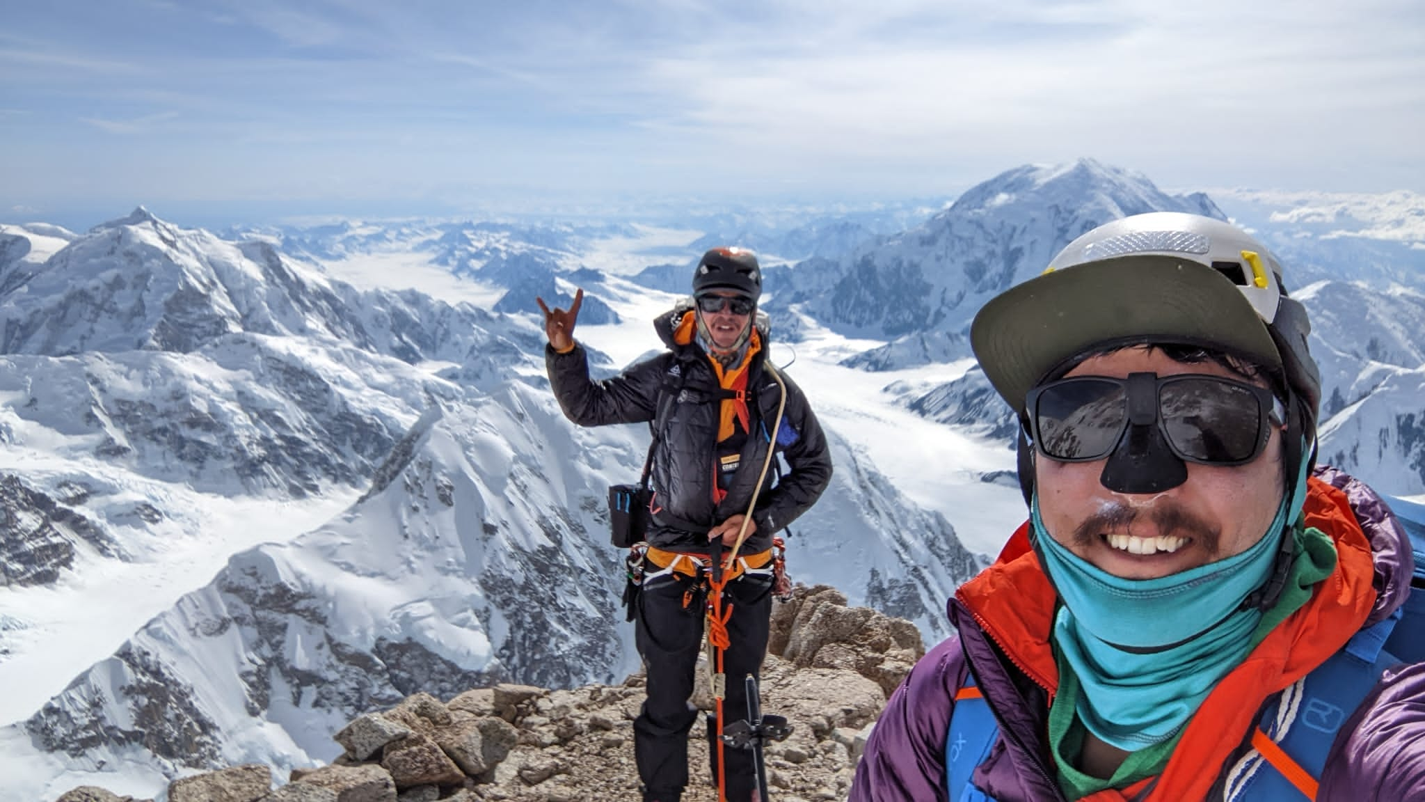
<path id="1" fill-rule="evenodd" d="M 965 327 L 989 297 L 1037 275 L 1084 230 L 1156 210 L 1223 217 L 1204 194 L 1167 196 L 1143 176 L 1092 160 L 1022 167 L 878 248 L 839 264 L 797 265 L 791 277 L 801 288 L 778 301 L 851 334 L 911 330 L 845 365 L 899 371 L 953 362 L 970 355 Z M 1396 217 L 1402 221 L 1389 237 L 1381 227 L 1347 235 L 1340 215 L 1310 214 L 1258 217 L 1257 234 L 1281 248 L 1287 285 L 1311 315 L 1311 351 L 1322 380 L 1322 460 L 1388 492 L 1416 494 L 1425 492 L 1425 450 L 1415 432 L 1425 404 L 1412 390 L 1425 375 L 1425 293 L 1418 290 L 1425 285 L 1425 251 L 1411 238 L 1414 217 Z M 1368 231 L 1378 237 L 1364 235 Z M 838 305 L 838 298 L 854 303 Z M 931 387 L 898 381 L 886 391 L 931 420 L 1006 442 L 1013 434 L 1007 408 L 979 371 Z"/>

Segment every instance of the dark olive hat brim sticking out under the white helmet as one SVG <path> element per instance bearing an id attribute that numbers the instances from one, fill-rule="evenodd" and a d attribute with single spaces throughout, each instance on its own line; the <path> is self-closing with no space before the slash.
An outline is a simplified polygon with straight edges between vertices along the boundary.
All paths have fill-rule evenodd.
<path id="1" fill-rule="evenodd" d="M 1203 345 L 1281 371 L 1247 297 L 1221 273 L 1170 255 L 1126 255 L 1046 273 L 992 298 L 970 347 L 995 390 L 1023 414 L 1050 371 L 1097 348 Z"/>

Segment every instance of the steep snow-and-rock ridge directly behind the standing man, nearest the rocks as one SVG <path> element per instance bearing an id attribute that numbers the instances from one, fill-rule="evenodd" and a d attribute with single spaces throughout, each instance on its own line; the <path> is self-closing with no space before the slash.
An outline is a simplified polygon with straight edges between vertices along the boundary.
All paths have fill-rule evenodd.
<path id="1" fill-rule="evenodd" d="M 329 762 L 335 728 L 416 691 L 621 679 L 637 656 L 610 626 L 623 572 L 604 489 L 636 474 L 646 434 L 574 428 L 520 382 L 442 407 L 343 517 L 232 558 L 24 731 L 157 788 L 219 763 Z M 982 558 L 831 438 L 836 477 L 795 527 L 794 575 L 943 636 L 939 606 Z"/>

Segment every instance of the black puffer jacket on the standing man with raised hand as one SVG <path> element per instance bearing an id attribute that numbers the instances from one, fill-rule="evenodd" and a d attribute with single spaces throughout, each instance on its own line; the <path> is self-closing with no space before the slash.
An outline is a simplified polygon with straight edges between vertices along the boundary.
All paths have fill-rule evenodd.
<path id="1" fill-rule="evenodd" d="M 757 498 L 754 521 L 757 532 L 742 547 L 744 554 L 755 554 L 772 545 L 772 535 L 811 508 L 831 481 L 831 452 L 821 424 L 807 404 L 807 397 L 787 374 L 778 372 L 787 387 L 787 408 L 782 412 L 779 435 L 772 437 L 777 405 L 782 388 L 765 365 L 767 331 L 760 328 L 762 350 L 752 355 L 748 368 L 750 428 L 741 460 L 727 497 L 712 501 L 714 465 L 721 388 L 708 355 L 697 344 L 678 344 L 674 331 L 690 314 L 691 307 L 680 304 L 654 320 L 654 328 L 668 351 L 644 360 L 621 374 L 604 380 L 589 378 L 589 357 L 576 342 L 574 350 L 559 354 L 544 350 L 550 384 L 564 415 L 584 427 L 604 424 L 636 424 L 654 421 L 657 448 L 653 454 L 650 485 L 664 517 L 654 515 L 648 528 L 648 542 L 678 551 L 708 551 L 707 529 L 747 512 L 757 477 L 762 472 L 768 441 L 791 468 L 772 487 L 775 467 L 768 469 L 762 492 Z M 661 407 L 661 414 L 660 414 Z M 658 420 L 654 420 L 658 418 Z M 701 531 L 677 527 L 668 517 L 693 524 Z"/>

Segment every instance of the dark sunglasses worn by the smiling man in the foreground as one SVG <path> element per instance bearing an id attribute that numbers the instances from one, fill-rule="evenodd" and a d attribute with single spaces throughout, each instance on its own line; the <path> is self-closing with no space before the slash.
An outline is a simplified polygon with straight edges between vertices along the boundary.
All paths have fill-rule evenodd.
<path id="1" fill-rule="evenodd" d="M 1287 420 L 1271 391 L 1203 374 L 1064 378 L 1030 390 L 1025 410 L 1039 452 L 1060 462 L 1103 460 L 1129 424 L 1156 424 L 1184 461 L 1244 465 Z"/>

